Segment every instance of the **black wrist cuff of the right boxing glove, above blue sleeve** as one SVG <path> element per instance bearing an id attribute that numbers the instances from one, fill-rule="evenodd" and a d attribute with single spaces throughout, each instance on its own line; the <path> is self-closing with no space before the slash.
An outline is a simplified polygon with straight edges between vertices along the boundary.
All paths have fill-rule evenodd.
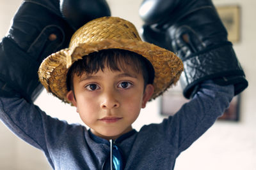
<path id="1" fill-rule="evenodd" d="M 184 73 L 180 76 L 180 84 L 186 98 L 192 97 L 196 85 L 205 80 L 213 80 L 219 85 L 234 84 L 235 95 L 248 86 L 231 43 L 186 57 L 183 64 Z"/>

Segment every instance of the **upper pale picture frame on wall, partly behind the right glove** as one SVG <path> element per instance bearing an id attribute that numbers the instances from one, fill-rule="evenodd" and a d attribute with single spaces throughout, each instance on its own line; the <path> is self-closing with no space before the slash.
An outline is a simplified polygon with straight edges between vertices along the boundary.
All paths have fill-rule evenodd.
<path id="1" fill-rule="evenodd" d="M 228 32 L 228 40 L 232 43 L 240 41 L 241 8 L 238 4 L 216 6 L 216 10 Z"/>

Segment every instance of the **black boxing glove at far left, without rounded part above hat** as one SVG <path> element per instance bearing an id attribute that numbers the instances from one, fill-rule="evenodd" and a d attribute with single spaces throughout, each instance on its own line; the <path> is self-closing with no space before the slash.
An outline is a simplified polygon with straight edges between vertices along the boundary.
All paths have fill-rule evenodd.
<path id="1" fill-rule="evenodd" d="M 58 0 L 23 1 L 0 43 L 1 96 L 16 92 L 35 101 L 43 89 L 37 75 L 40 63 L 68 46 L 73 32 L 61 16 Z"/>

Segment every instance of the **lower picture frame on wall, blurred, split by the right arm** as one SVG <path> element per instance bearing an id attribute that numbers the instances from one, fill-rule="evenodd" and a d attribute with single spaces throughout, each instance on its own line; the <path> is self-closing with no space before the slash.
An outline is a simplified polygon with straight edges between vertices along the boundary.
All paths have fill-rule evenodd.
<path id="1" fill-rule="evenodd" d="M 165 92 L 160 99 L 160 113 L 164 117 L 173 116 L 180 110 L 182 105 L 188 103 L 188 101 L 189 100 L 182 95 L 181 90 L 170 90 Z M 240 103 L 241 96 L 235 96 L 232 99 L 230 106 L 224 111 L 223 115 L 218 118 L 218 120 L 238 122 Z"/>

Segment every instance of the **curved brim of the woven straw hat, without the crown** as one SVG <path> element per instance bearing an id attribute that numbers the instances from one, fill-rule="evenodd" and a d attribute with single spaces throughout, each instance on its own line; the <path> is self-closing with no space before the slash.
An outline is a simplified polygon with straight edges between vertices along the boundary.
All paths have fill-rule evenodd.
<path id="1" fill-rule="evenodd" d="M 111 48 L 138 53 L 151 62 L 155 71 L 154 94 L 151 99 L 155 99 L 170 86 L 175 85 L 183 71 L 182 60 L 169 50 L 134 39 L 103 39 L 81 43 L 53 53 L 42 62 L 38 70 L 39 79 L 48 92 L 65 103 L 70 103 L 66 96 L 68 92 L 67 73 L 71 64 L 82 59 L 84 55 Z M 68 61 L 68 58 L 71 60 Z"/>

